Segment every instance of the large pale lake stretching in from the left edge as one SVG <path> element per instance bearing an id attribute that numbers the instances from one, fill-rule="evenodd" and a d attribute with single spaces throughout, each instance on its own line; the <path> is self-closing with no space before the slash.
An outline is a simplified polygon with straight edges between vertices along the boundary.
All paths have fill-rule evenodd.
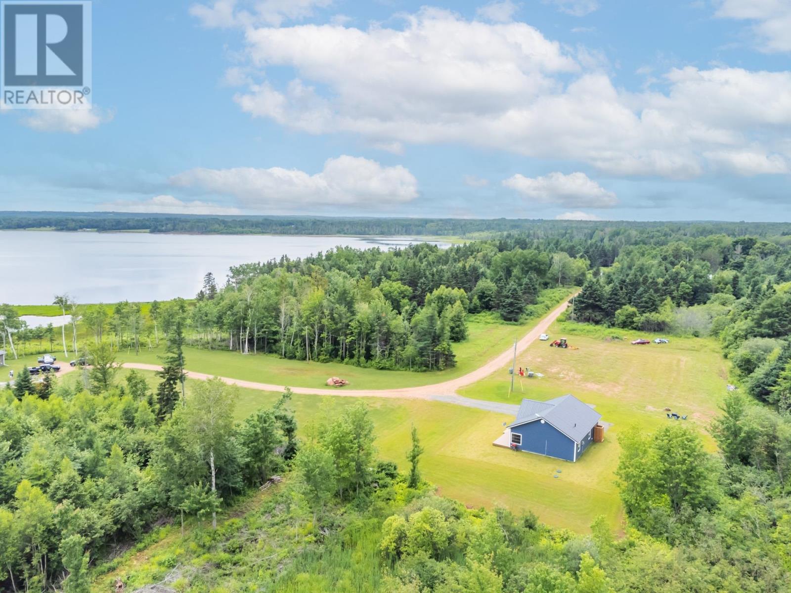
<path id="1" fill-rule="evenodd" d="M 78 303 L 191 298 L 203 276 L 225 282 L 230 266 L 339 245 L 390 249 L 409 237 L 151 235 L 142 232 L 0 231 L 0 303 L 51 304 L 68 293 Z M 437 242 L 441 247 L 447 244 Z"/>

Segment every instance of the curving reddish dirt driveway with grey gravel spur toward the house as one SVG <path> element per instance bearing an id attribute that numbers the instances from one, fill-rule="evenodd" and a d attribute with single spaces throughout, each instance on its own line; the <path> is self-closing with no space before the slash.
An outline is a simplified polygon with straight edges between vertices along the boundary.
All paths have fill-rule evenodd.
<path id="1" fill-rule="evenodd" d="M 523 338 L 517 342 L 517 356 L 524 352 L 533 342 L 540 337 L 541 334 L 547 333 L 549 327 L 556 319 L 566 311 L 569 303 L 568 300 L 564 301 L 558 308 L 550 312 L 547 316 L 540 319 L 536 326 L 529 330 Z M 461 387 L 467 387 L 472 383 L 484 379 L 493 372 L 498 371 L 513 361 L 513 349 L 509 348 L 505 352 L 499 354 L 497 357 L 492 358 L 490 361 L 476 368 L 466 375 L 457 377 L 456 379 L 444 381 L 442 383 L 434 383 L 433 385 L 422 385 L 420 387 L 402 387 L 397 389 L 322 389 L 313 387 L 290 387 L 293 393 L 301 395 L 333 395 L 335 397 L 347 398 L 395 398 L 395 399 L 427 399 L 438 402 L 453 403 L 459 406 L 475 407 L 480 410 L 488 410 L 491 412 L 498 412 L 502 414 L 515 414 L 517 407 L 512 404 L 504 404 L 498 402 L 487 402 L 479 399 L 464 398 L 456 394 L 456 391 Z M 159 371 L 161 366 L 157 364 L 143 364 L 138 362 L 124 363 L 123 368 L 136 368 L 143 371 Z M 214 375 L 208 375 L 202 372 L 186 371 L 187 376 L 191 379 L 208 380 Z M 258 383 L 255 381 L 245 381 L 240 379 L 232 379 L 229 377 L 220 377 L 222 381 L 229 385 L 237 385 L 238 387 L 245 387 L 247 389 L 257 389 L 259 391 L 282 391 L 282 385 L 274 385 L 272 383 Z"/>

